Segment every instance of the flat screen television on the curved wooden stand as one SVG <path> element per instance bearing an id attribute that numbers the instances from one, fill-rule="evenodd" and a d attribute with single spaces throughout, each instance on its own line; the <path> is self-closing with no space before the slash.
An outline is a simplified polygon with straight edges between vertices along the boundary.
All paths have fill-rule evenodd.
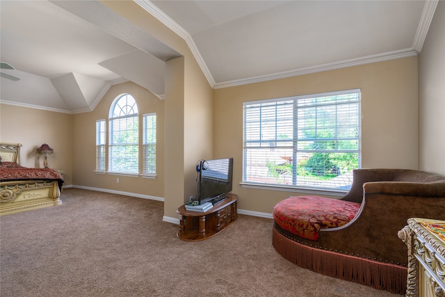
<path id="1" fill-rule="evenodd" d="M 197 199 L 216 204 L 232 191 L 234 159 L 200 160 L 197 165 Z"/>

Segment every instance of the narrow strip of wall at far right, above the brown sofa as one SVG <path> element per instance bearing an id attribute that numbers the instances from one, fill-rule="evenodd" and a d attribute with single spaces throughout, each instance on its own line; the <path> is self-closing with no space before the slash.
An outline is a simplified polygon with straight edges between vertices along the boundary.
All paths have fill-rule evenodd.
<path id="1" fill-rule="evenodd" d="M 445 2 L 419 55 L 419 169 L 445 175 Z"/>

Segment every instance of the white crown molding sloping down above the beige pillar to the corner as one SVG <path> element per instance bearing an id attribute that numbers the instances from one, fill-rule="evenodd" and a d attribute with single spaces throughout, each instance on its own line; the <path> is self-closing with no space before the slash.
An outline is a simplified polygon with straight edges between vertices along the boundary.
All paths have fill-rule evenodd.
<path id="1" fill-rule="evenodd" d="M 204 62 L 204 59 L 202 58 L 200 51 L 198 51 L 191 35 L 184 28 L 179 26 L 179 24 L 177 24 L 177 22 L 175 22 L 171 17 L 165 15 L 165 13 L 163 13 L 163 11 L 160 10 L 157 6 L 155 6 L 151 1 L 149 0 L 134 0 L 134 1 L 140 7 L 144 8 L 147 11 L 147 13 L 156 17 L 156 19 L 158 19 L 161 23 L 163 23 L 170 30 L 175 32 L 177 35 L 179 35 L 179 37 L 181 37 L 186 41 L 188 48 L 191 50 L 198 65 L 200 65 L 201 70 L 204 73 L 204 76 L 206 77 L 210 86 L 213 88 L 213 86 L 215 86 L 216 83 L 215 79 L 213 79 L 213 76 L 211 75 L 211 72 L 207 67 L 206 63 Z"/>

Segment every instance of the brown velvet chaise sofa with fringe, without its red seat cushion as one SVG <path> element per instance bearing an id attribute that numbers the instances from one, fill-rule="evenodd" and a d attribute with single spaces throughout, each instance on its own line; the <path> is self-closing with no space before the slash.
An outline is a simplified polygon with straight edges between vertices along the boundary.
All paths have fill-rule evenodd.
<path id="1" fill-rule="evenodd" d="M 407 248 L 398 231 L 412 217 L 445 220 L 445 177 L 418 170 L 354 170 L 352 187 L 341 200 L 361 203 L 349 223 L 321 229 L 312 241 L 274 222 L 275 250 L 317 273 L 405 294 Z"/>

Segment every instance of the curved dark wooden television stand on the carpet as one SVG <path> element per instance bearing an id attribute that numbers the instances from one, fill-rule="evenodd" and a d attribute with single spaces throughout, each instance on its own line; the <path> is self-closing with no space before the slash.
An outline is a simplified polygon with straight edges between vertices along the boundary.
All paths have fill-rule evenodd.
<path id="1" fill-rule="evenodd" d="M 188 211 L 184 205 L 177 209 L 179 214 L 179 239 L 201 241 L 225 230 L 238 218 L 236 201 L 238 196 L 227 194 L 227 199 L 213 206 L 209 211 Z"/>

